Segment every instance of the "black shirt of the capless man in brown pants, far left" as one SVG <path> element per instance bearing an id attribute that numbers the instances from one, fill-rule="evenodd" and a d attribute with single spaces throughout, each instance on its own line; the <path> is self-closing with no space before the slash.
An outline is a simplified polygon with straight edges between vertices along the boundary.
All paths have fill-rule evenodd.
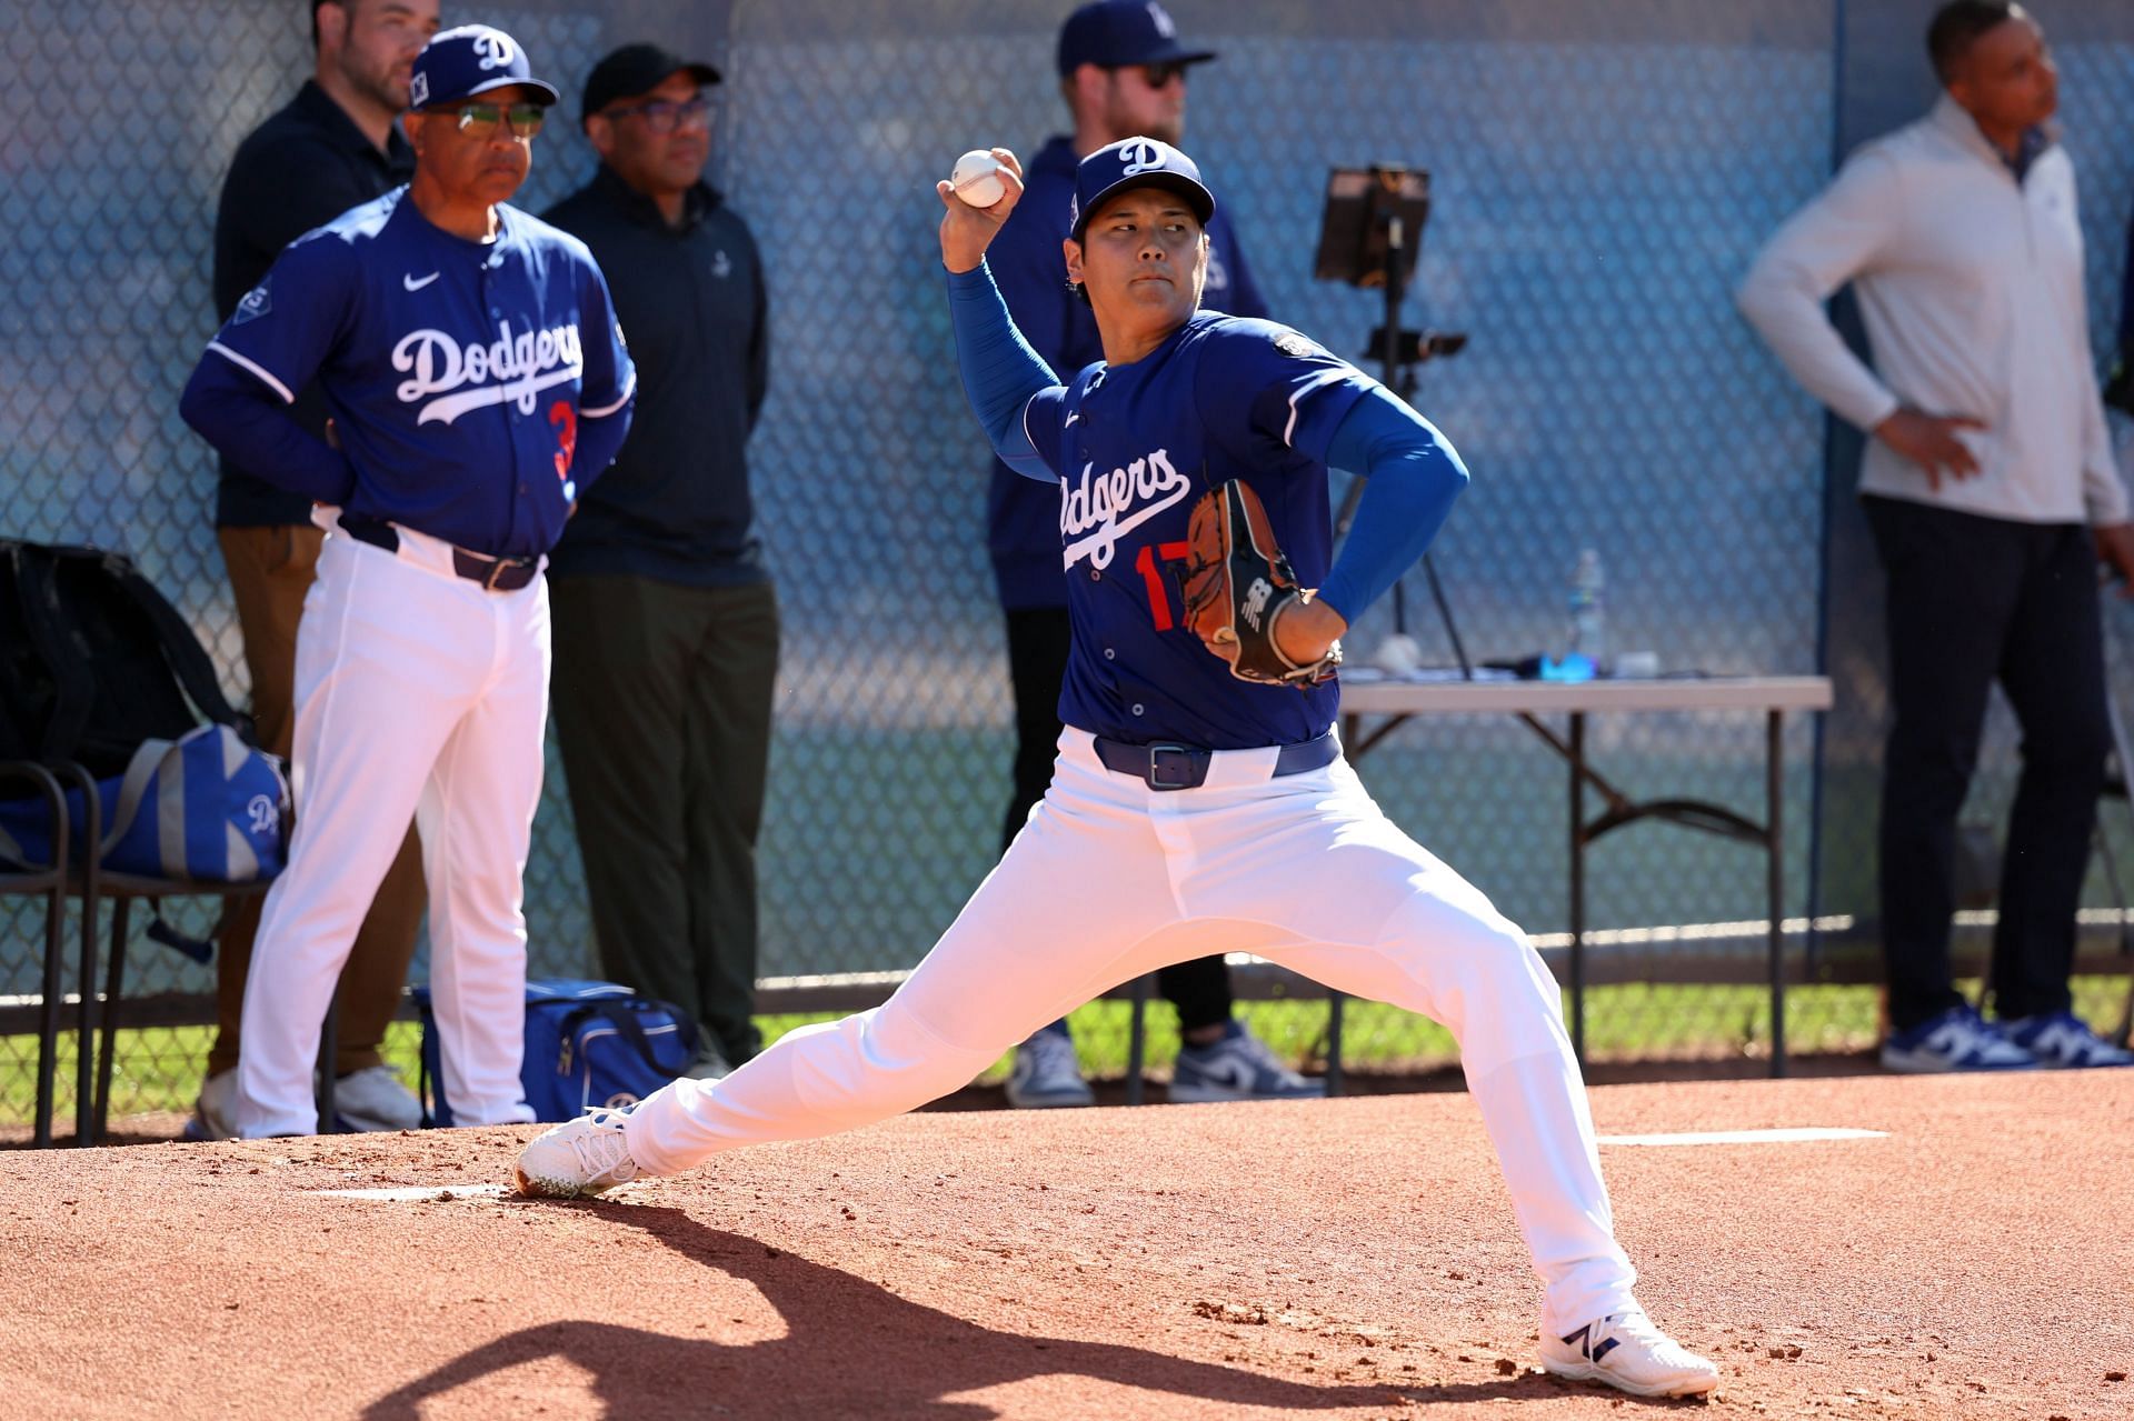
<path id="1" fill-rule="evenodd" d="M 248 290 L 314 226 L 384 196 L 414 177 L 414 149 L 395 126 L 378 151 L 341 105 L 307 79 L 297 98 L 252 130 L 230 158 L 216 209 L 216 320 L 228 320 Z M 312 433 L 327 429 L 318 386 L 297 390 L 290 414 Z M 222 461 L 216 527 L 309 523 L 312 501 Z"/>

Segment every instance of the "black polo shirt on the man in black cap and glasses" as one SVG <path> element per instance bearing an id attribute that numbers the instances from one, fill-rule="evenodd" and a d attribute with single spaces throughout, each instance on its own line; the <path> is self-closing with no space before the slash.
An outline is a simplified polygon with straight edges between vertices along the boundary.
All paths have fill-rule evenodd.
<path id="1" fill-rule="evenodd" d="M 768 578 L 749 497 L 770 326 L 747 224 L 708 183 L 681 226 L 602 164 L 542 213 L 593 250 L 638 367 L 630 437 L 548 555 L 551 576 L 623 574 L 689 587 Z"/>

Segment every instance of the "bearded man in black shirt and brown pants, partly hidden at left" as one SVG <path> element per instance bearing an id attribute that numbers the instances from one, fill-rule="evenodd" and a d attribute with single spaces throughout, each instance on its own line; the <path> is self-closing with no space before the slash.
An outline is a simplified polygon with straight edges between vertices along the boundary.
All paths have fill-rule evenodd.
<path id="1" fill-rule="evenodd" d="M 395 119 L 408 109 L 414 55 L 437 32 L 437 0 L 312 0 L 316 64 L 297 98 L 237 147 L 216 211 L 216 318 L 228 320 L 267 267 L 297 237 L 384 196 L 414 175 L 414 151 Z M 327 427 L 318 386 L 297 393 L 290 416 L 309 433 Z M 252 719 L 265 749 L 290 753 L 294 730 L 297 619 L 312 589 L 324 531 L 312 504 L 222 461 L 216 542 L 230 574 L 237 627 L 252 672 Z M 378 1043 L 399 1007 L 423 917 L 423 853 L 414 830 L 378 888 L 341 973 L 335 1050 L 335 1114 L 365 1131 L 414 1129 L 423 1107 L 384 1065 Z M 216 1043 L 186 1133 L 237 1133 L 237 1050 L 258 932 L 260 898 L 239 898 L 216 954 Z M 320 1129 L 333 1129 L 322 1120 Z"/>

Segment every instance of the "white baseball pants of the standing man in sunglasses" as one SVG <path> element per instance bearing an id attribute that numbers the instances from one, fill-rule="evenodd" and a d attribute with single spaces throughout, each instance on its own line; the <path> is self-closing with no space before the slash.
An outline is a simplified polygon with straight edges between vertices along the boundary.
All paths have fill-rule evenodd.
<path id="1" fill-rule="evenodd" d="M 388 553 L 335 531 L 297 629 L 297 828 L 260 911 L 237 1131 L 318 1129 L 312 1067 L 341 964 L 414 819 L 429 879 L 431 1007 L 461 1124 L 531 1120 L 527 843 L 548 715 L 548 582 L 497 593 L 448 544 Z"/>

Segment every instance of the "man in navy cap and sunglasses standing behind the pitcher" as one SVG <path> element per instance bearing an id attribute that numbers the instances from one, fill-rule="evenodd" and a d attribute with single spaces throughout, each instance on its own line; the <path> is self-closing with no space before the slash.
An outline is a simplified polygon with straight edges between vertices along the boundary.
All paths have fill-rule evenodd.
<path id="1" fill-rule="evenodd" d="M 1058 38 L 1061 98 L 1071 134 L 1052 137 L 1031 160 L 1029 192 L 992 243 L 992 273 L 1016 326 L 1054 369 L 1101 358 L 1088 303 L 1067 286 L 1061 239 L 1073 201 L 1076 164 L 1135 134 L 1178 143 L 1187 122 L 1187 75 L 1214 60 L 1178 43 L 1154 0 L 1084 4 Z M 1253 271 L 1223 211 L 1208 222 L 1208 288 L 1201 305 L 1231 316 L 1265 316 Z M 994 459 L 986 499 L 992 574 L 1007 617 L 1007 670 L 1016 691 L 1016 768 L 1001 847 L 1046 794 L 1061 734 L 1067 672 L 1067 578 L 1058 553 L 1058 497 Z M 1223 958 L 1165 967 L 1157 988 L 1178 1009 L 1182 1045 L 1172 1069 L 1174 1101 L 1251 1101 L 1325 1095 L 1325 1084 L 1283 1065 L 1231 1016 Z M 1090 1105 L 1067 1022 L 1054 1022 L 1016 1052 L 1007 1099 L 1022 1107 Z"/>

